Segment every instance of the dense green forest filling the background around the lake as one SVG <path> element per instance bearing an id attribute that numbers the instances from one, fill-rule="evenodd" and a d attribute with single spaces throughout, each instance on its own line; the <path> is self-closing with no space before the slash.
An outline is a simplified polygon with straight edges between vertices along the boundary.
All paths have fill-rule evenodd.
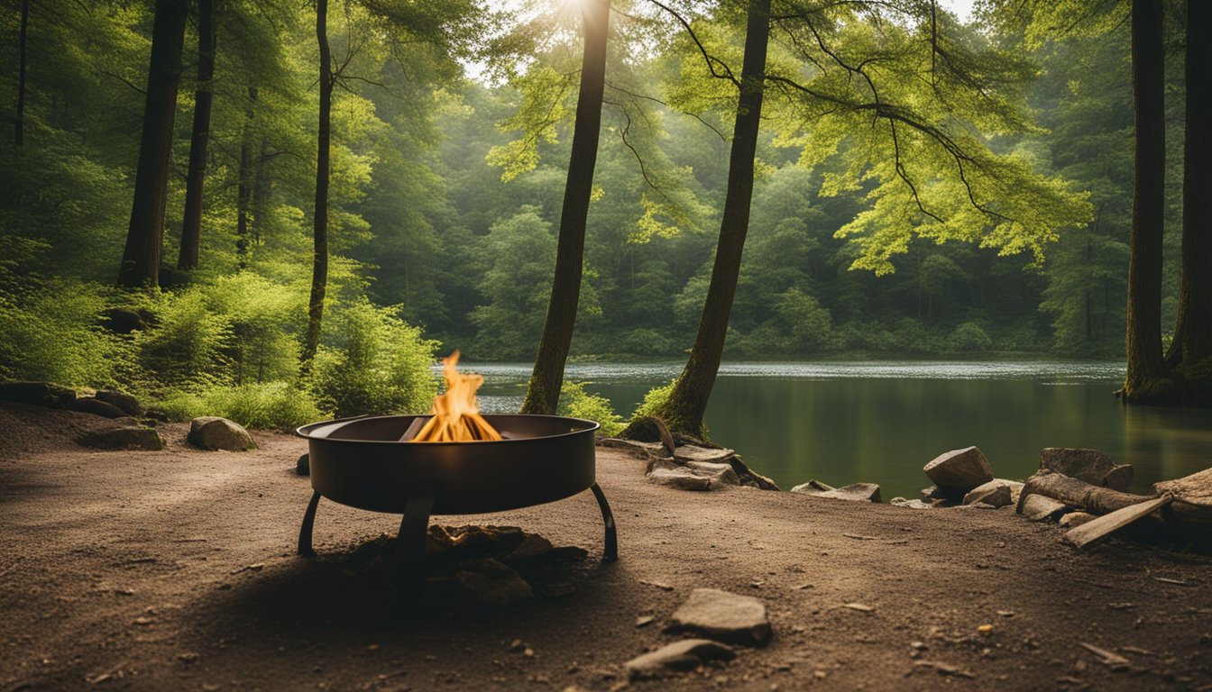
<path id="1" fill-rule="evenodd" d="M 1127 332 L 1166 399 L 1212 370 L 1199 5 L 8 0 L 0 378 L 282 427 L 425 410 L 453 349 L 539 349 L 550 412 L 566 359 Z"/>

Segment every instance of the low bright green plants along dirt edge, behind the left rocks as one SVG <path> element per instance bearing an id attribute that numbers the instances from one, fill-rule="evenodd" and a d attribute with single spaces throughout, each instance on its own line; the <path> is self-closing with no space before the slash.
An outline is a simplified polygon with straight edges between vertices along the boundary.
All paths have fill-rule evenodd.
<path id="1" fill-rule="evenodd" d="M 173 421 L 222 416 L 262 430 L 296 428 L 324 417 L 307 390 L 287 382 L 172 390 L 153 405 Z"/>

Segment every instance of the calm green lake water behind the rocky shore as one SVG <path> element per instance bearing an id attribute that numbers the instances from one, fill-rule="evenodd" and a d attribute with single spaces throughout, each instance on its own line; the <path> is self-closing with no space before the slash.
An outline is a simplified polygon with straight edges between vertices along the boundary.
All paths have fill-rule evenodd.
<path id="1" fill-rule="evenodd" d="M 681 362 L 576 364 L 566 376 L 630 413 Z M 468 364 L 485 376 L 481 407 L 514 412 L 530 364 Z M 1024 479 L 1041 447 L 1094 447 L 1136 468 L 1134 488 L 1212 465 L 1212 411 L 1125 407 L 1117 362 L 726 364 L 707 424 L 716 442 L 789 488 L 880 484 L 916 497 L 921 467 L 977 445 L 1000 477 Z"/>

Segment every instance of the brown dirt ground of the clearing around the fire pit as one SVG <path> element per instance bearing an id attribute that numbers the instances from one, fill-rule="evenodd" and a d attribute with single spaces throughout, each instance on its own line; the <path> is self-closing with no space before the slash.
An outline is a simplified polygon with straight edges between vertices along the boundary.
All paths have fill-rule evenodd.
<path id="1" fill-rule="evenodd" d="M 570 588 L 521 606 L 410 608 L 350 568 L 399 517 L 321 502 L 318 556 L 293 554 L 311 494 L 293 473 L 303 440 L 262 431 L 256 452 L 205 452 L 177 424 L 160 452 L 75 445 L 107 424 L 0 405 L 2 691 L 1212 690 L 1212 561 L 1121 542 L 1075 553 L 1008 508 L 685 492 L 599 447 L 618 562 L 599 561 L 588 492 L 436 517 L 589 556 Z M 663 620 L 699 587 L 764 600 L 770 645 L 629 684 L 622 664 L 679 639 Z"/>

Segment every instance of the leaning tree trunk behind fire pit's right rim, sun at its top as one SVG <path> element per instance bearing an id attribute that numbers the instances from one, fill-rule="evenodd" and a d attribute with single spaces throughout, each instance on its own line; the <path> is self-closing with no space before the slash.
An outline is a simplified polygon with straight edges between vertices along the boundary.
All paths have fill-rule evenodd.
<path id="1" fill-rule="evenodd" d="M 564 185 L 564 207 L 560 211 L 555 279 L 551 281 L 551 299 L 547 304 L 547 320 L 543 322 L 543 336 L 538 342 L 538 355 L 534 356 L 534 370 L 526 388 L 522 413 L 555 413 L 581 298 L 585 217 L 589 215 L 589 198 L 593 194 L 602 91 L 606 85 L 610 0 L 584 0 L 581 18 L 585 45 L 581 59 L 581 93 L 577 97 L 572 155 Z"/>

